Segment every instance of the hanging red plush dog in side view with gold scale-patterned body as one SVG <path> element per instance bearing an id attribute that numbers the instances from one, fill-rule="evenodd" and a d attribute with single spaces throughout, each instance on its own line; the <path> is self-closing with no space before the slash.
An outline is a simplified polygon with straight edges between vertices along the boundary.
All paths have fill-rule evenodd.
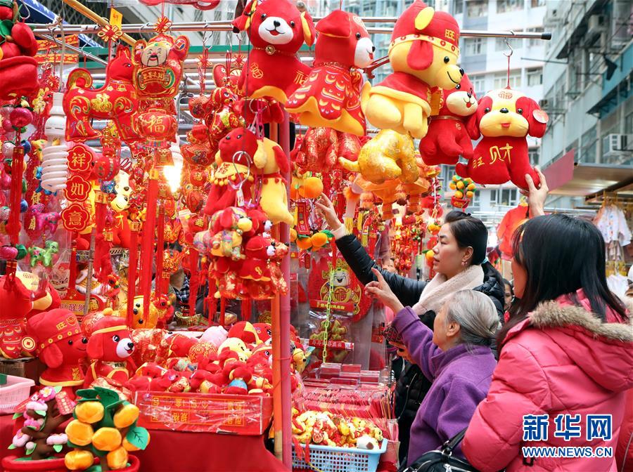
<path id="1" fill-rule="evenodd" d="M 316 24 L 319 39 L 314 67 L 306 81 L 288 98 L 286 110 L 299 114 L 307 126 L 328 126 L 337 131 L 363 136 L 365 117 L 360 106 L 363 69 L 373 60 L 373 46 L 363 20 L 335 10 Z"/>

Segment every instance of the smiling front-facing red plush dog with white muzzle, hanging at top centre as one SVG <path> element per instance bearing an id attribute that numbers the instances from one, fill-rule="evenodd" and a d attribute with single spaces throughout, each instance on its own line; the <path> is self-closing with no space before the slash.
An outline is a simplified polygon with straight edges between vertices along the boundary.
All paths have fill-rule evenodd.
<path id="1" fill-rule="evenodd" d="M 304 41 L 314 43 L 312 18 L 289 0 L 252 0 L 233 25 L 248 33 L 253 46 L 240 88 L 249 98 L 270 97 L 285 105 L 310 72 L 295 54 Z"/>

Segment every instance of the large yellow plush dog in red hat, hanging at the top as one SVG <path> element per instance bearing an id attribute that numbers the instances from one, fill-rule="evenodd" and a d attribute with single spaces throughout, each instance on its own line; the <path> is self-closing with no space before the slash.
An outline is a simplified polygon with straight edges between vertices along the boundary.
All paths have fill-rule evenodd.
<path id="1" fill-rule="evenodd" d="M 414 1 L 395 23 L 389 46 L 393 68 L 384 81 L 362 96 L 369 122 L 380 129 L 423 138 L 430 117 L 431 89 L 452 89 L 463 71 L 457 67 L 459 25 L 442 11 Z"/>

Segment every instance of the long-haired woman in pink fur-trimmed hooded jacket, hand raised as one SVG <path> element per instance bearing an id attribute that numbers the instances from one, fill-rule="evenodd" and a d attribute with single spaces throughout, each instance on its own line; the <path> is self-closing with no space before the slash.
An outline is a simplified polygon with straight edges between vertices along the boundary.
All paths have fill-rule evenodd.
<path id="1" fill-rule="evenodd" d="M 513 257 L 516 300 L 499 332 L 490 391 L 462 450 L 482 472 L 615 472 L 633 387 L 633 326 L 608 290 L 600 232 L 569 216 L 537 216 L 517 231 Z M 553 457 L 525 447 L 550 447 Z M 596 447 L 613 452 L 573 457 L 608 453 Z"/>

